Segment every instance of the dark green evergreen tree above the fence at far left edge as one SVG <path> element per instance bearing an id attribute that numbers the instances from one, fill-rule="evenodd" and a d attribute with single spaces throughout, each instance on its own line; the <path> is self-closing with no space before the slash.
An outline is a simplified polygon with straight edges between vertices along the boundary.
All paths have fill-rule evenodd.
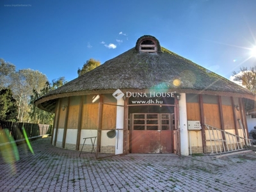
<path id="1" fill-rule="evenodd" d="M 0 120 L 11 122 L 17 121 L 18 108 L 10 89 L 3 89 L 0 91 L 0 109 Z"/>

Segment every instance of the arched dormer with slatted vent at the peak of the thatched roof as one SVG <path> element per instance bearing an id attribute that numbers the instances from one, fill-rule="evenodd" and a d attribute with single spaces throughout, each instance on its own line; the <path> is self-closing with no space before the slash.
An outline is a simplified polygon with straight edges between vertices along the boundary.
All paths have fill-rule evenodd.
<path id="1" fill-rule="evenodd" d="M 141 36 L 136 42 L 136 51 L 138 53 L 154 53 L 161 52 L 159 41 L 151 35 Z"/>

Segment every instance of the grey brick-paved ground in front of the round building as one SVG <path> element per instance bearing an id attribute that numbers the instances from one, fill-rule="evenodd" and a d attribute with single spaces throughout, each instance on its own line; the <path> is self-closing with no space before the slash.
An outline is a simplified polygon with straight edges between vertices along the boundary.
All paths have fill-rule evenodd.
<path id="1" fill-rule="evenodd" d="M 19 161 L 2 149 L 0 191 L 256 191 L 256 154 L 178 157 L 93 154 L 53 147 L 50 139 L 18 146 Z M 4 154 L 4 156 L 3 156 Z M 6 163 L 8 161 L 9 163 Z"/>

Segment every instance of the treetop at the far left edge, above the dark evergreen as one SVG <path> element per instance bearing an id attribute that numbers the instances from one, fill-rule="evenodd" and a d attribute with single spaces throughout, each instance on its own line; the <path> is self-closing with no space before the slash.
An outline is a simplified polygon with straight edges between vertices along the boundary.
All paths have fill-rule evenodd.
<path id="1" fill-rule="evenodd" d="M 0 58 L 0 89 L 7 88 L 11 82 L 11 76 L 15 73 L 15 65 Z"/>

